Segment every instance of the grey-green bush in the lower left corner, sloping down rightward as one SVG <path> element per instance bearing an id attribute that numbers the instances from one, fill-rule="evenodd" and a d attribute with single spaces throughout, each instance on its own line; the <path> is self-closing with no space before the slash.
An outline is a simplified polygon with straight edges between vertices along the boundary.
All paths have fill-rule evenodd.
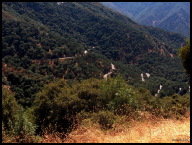
<path id="1" fill-rule="evenodd" d="M 19 142 L 34 142 L 36 125 L 29 121 L 23 107 L 17 104 L 14 94 L 2 89 L 2 124 L 4 135 Z"/>

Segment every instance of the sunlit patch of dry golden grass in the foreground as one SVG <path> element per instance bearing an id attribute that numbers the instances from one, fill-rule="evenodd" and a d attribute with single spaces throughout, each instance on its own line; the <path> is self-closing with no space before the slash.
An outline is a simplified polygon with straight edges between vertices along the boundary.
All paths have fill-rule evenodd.
<path id="1" fill-rule="evenodd" d="M 180 120 L 135 122 L 132 127 L 119 126 L 102 131 L 97 126 L 80 126 L 65 143 L 183 143 L 190 142 L 190 118 Z"/>

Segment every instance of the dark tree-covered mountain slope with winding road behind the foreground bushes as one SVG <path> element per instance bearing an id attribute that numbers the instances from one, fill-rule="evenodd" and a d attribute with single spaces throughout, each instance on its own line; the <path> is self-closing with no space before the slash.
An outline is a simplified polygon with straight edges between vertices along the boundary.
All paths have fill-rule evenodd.
<path id="1" fill-rule="evenodd" d="M 58 78 L 103 78 L 111 63 L 112 75 L 120 73 L 152 94 L 160 83 L 161 96 L 186 90 L 177 57 L 185 37 L 139 25 L 100 3 L 4 2 L 2 30 L 3 84 L 11 85 L 21 104 L 30 104 L 39 86 Z M 151 78 L 142 82 L 141 73 Z"/>

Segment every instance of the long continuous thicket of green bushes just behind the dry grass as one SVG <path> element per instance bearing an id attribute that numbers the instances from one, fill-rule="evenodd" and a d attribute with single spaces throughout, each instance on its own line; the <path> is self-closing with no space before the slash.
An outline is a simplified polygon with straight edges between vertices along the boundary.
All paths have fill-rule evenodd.
<path id="1" fill-rule="evenodd" d="M 133 88 L 117 76 L 107 81 L 88 79 L 72 86 L 68 86 L 65 81 L 48 84 L 37 94 L 34 114 L 39 131 L 50 127 L 63 132 L 70 131 L 78 118 L 83 120 L 93 117 L 94 122 L 106 129 L 112 126 L 114 115 L 148 111 L 166 118 L 178 117 L 184 115 L 189 106 L 189 94 L 183 97 L 177 94 L 155 97 L 149 90 Z M 113 117 L 111 113 L 114 113 Z"/>

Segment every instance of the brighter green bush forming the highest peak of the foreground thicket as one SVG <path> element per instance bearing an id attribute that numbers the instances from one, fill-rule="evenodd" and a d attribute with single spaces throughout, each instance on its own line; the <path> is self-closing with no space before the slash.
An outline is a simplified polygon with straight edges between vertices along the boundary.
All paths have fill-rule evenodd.
<path id="1" fill-rule="evenodd" d="M 115 111 L 117 114 L 130 113 L 142 106 L 139 91 L 127 85 L 121 76 L 110 78 L 104 82 L 100 87 L 100 93 L 101 106 Z"/>

